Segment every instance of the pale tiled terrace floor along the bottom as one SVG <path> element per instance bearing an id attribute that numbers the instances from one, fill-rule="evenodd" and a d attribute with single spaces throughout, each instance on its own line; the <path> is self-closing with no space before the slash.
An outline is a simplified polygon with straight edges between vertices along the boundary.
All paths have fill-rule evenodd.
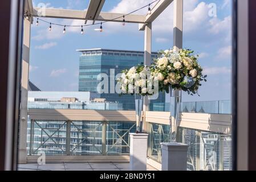
<path id="1" fill-rule="evenodd" d="M 19 171 L 129 171 L 128 163 L 48 163 L 19 164 Z M 157 171 L 152 166 L 147 166 L 147 171 Z"/>

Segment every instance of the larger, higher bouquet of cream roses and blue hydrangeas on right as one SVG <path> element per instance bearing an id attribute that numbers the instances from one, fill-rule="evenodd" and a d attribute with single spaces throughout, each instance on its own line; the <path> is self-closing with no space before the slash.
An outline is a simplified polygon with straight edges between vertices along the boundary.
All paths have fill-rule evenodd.
<path id="1" fill-rule="evenodd" d="M 193 55 L 190 49 L 173 49 L 160 51 L 159 57 L 152 64 L 152 75 L 159 78 L 159 90 L 169 93 L 172 89 L 181 89 L 188 94 L 198 94 L 201 81 L 206 81 L 207 75 L 202 75 L 198 64 L 198 55 Z"/>

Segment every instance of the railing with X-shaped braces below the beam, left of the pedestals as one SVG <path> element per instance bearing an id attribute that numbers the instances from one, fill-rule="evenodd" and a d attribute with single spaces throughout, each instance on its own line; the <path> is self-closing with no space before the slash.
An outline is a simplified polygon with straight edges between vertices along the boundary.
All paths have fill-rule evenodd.
<path id="1" fill-rule="evenodd" d="M 28 155 L 128 155 L 133 122 L 35 121 L 28 123 Z"/>

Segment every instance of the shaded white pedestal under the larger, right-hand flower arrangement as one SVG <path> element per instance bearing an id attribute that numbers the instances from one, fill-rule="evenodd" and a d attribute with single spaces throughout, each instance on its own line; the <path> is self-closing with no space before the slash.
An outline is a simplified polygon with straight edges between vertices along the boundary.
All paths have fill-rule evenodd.
<path id="1" fill-rule="evenodd" d="M 188 145 L 183 143 L 161 143 L 162 171 L 186 171 Z"/>

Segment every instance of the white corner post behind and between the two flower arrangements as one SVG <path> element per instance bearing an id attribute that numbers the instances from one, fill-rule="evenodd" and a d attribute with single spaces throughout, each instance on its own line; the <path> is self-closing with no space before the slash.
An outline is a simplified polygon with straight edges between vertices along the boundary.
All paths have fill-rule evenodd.
<path id="1" fill-rule="evenodd" d="M 152 57 L 152 23 L 148 23 L 145 27 L 145 37 L 144 37 L 144 64 L 147 66 L 151 65 Z M 144 97 L 143 101 L 143 131 L 147 131 L 147 124 L 145 122 L 145 111 L 149 110 L 149 99 Z"/>

